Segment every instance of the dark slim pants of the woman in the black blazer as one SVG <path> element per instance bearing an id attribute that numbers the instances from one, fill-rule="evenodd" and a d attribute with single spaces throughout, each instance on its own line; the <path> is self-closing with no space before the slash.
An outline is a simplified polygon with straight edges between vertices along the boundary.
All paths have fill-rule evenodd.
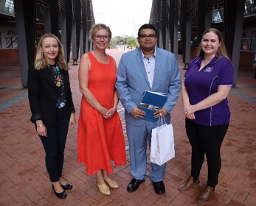
<path id="1" fill-rule="evenodd" d="M 47 137 L 40 136 L 46 153 L 45 162 L 49 178 L 57 182 L 62 176 L 66 135 L 69 129 L 69 119 L 65 111 L 57 112 L 57 121 L 52 127 L 46 127 Z"/>

